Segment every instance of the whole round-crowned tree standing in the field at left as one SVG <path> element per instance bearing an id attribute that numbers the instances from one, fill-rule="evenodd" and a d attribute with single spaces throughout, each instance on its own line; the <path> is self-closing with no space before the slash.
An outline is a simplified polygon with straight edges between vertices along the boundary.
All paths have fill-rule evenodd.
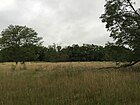
<path id="1" fill-rule="evenodd" d="M 36 57 L 33 49 L 42 44 L 42 37 L 37 37 L 38 34 L 26 26 L 10 25 L 0 35 L 0 49 L 3 59 L 16 63 Z"/>

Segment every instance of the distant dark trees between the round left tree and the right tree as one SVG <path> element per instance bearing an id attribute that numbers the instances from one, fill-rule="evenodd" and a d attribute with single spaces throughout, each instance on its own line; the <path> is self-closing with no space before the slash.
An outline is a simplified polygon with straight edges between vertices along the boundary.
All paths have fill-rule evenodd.
<path id="1" fill-rule="evenodd" d="M 60 46 L 59 46 L 60 47 Z M 43 55 L 40 55 L 39 61 L 48 62 L 71 62 L 71 61 L 130 61 L 132 51 L 123 46 L 107 44 L 105 47 L 83 44 L 79 46 L 60 47 L 57 45 L 44 48 Z"/>

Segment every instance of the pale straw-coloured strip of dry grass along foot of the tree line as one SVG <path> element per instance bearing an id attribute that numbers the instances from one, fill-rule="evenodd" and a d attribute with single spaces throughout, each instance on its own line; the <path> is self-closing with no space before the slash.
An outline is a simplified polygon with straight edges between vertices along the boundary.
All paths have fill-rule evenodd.
<path id="1" fill-rule="evenodd" d="M 85 69 L 95 69 L 104 67 L 115 67 L 113 62 L 60 62 L 60 63 L 46 63 L 46 62 L 26 62 L 26 69 L 28 70 L 54 70 L 58 68 L 85 68 Z M 16 65 L 14 62 L 11 63 L 1 63 L 0 70 L 22 70 L 23 64 Z"/>

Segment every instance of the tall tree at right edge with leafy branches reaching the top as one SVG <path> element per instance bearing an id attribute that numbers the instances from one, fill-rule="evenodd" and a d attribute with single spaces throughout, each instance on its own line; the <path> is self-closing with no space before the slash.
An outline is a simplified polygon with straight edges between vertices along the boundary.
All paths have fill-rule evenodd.
<path id="1" fill-rule="evenodd" d="M 133 59 L 140 61 L 140 9 L 135 9 L 131 0 L 106 0 L 103 23 L 117 45 L 128 45 L 133 50 Z"/>

